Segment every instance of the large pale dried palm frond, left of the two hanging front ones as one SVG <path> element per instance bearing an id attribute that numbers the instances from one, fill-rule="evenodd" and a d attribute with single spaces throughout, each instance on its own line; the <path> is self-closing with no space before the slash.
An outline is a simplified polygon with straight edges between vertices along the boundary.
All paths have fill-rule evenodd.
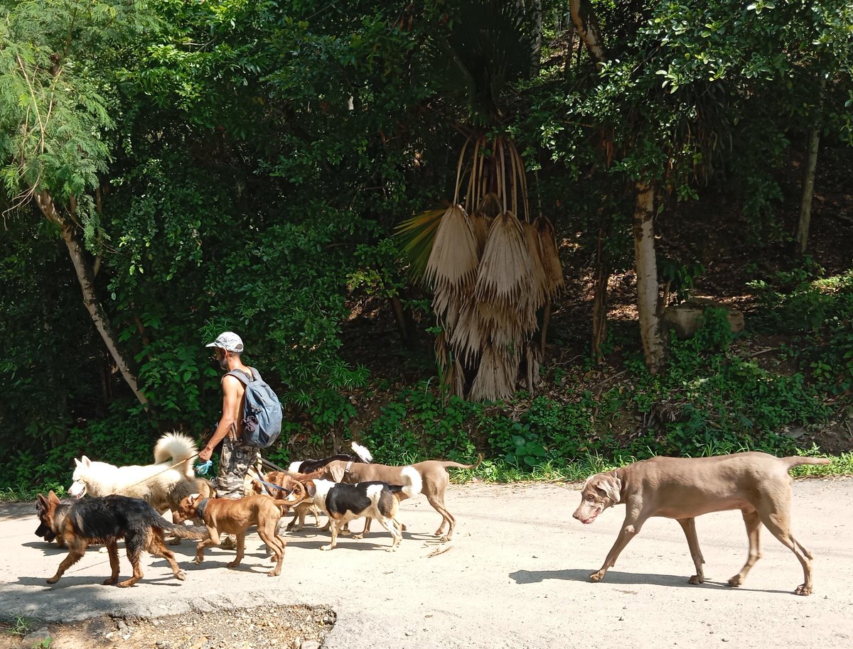
<path id="1" fill-rule="evenodd" d="M 477 272 L 477 240 L 465 209 L 451 205 L 441 217 L 432 243 L 424 282 L 427 285 L 461 290 Z"/>

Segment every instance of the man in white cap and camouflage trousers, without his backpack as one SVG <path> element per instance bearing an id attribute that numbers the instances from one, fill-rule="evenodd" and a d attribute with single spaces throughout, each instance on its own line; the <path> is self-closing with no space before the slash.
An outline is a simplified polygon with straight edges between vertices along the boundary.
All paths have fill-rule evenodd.
<path id="1" fill-rule="evenodd" d="M 216 350 L 219 366 L 227 370 L 222 377 L 222 418 L 207 445 L 199 452 L 201 462 L 207 462 L 213 454 L 213 449 L 219 442 L 222 453 L 219 457 L 219 473 L 216 480 L 216 495 L 218 498 L 241 498 L 243 481 L 249 467 L 258 461 L 258 448 L 243 442 L 243 408 L 246 399 L 246 387 L 243 382 L 231 374 L 234 370 L 252 376 L 252 369 L 243 365 L 243 341 L 233 331 L 224 331 L 217 339 L 206 347 Z M 235 548 L 235 537 L 229 535 L 223 539 L 221 548 Z"/>

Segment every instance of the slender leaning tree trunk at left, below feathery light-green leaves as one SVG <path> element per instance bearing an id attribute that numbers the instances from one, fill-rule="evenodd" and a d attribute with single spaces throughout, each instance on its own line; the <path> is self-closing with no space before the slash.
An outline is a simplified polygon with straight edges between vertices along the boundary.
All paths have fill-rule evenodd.
<path id="1" fill-rule="evenodd" d="M 107 350 L 110 355 L 113 357 L 116 366 L 119 368 L 121 376 L 125 377 L 125 382 L 127 382 L 131 387 L 131 390 L 136 395 L 136 399 L 139 400 L 139 403 L 147 406 L 148 399 L 146 399 L 142 390 L 140 390 L 136 385 L 136 376 L 133 375 L 130 370 L 130 365 L 127 364 L 124 356 L 119 351 L 119 347 L 116 343 L 116 337 L 113 334 L 113 327 L 110 325 L 109 319 L 107 319 L 107 313 L 101 306 L 101 302 L 97 299 L 95 293 L 95 273 L 90 264 L 86 261 L 84 245 L 78 237 L 76 225 L 73 222 L 67 221 L 67 219 L 60 215 L 59 210 L 56 210 L 56 206 L 50 192 L 47 192 L 46 190 L 36 192 L 36 203 L 38 204 L 38 208 L 42 210 L 42 214 L 44 214 L 49 221 L 53 221 L 60 227 L 62 240 L 65 241 L 68 254 L 71 256 L 74 270 L 77 273 L 80 288 L 83 290 L 84 306 L 89 312 L 98 333 L 101 334 L 103 342 L 107 346 Z"/>

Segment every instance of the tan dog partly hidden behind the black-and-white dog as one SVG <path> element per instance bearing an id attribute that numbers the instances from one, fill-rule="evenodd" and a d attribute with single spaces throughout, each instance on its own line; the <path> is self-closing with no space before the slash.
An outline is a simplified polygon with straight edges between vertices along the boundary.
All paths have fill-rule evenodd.
<path id="1" fill-rule="evenodd" d="M 418 462 L 411 465 L 412 468 L 415 468 L 415 471 L 421 474 L 421 492 L 427 497 L 427 501 L 432 505 L 432 508 L 438 514 L 441 514 L 441 525 L 435 531 L 435 536 L 441 537 L 442 541 L 450 541 L 453 538 L 453 530 L 456 527 L 456 519 L 453 518 L 453 515 L 444 506 L 444 491 L 447 489 L 447 485 L 450 484 L 450 474 L 447 468 L 475 468 L 479 466 L 480 462 L 483 462 L 482 455 L 473 464 L 427 460 L 426 462 Z M 320 469 L 320 471 L 323 478 L 334 480 L 334 482 L 345 482 L 350 485 L 374 480 L 386 482 L 389 485 L 403 485 L 405 483 L 403 468 L 405 467 L 389 467 L 386 464 L 339 462 L 336 460 L 335 462 L 330 462 L 327 466 Z M 397 496 L 402 500 L 407 497 L 407 494 L 397 494 Z M 448 531 L 447 535 L 443 536 L 445 525 L 448 526 Z"/>

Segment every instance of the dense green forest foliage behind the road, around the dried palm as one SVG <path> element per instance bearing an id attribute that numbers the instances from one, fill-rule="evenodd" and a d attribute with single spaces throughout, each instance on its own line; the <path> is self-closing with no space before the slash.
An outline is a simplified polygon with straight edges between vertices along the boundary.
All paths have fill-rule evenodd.
<path id="1" fill-rule="evenodd" d="M 586 350 L 549 364 L 567 344 L 555 333 L 541 393 L 506 404 L 431 378 L 431 342 L 416 344 L 435 333 L 428 296 L 393 232 L 444 207 L 473 126 L 517 142 L 570 278 L 596 254 L 608 276 L 633 266 L 635 181 L 663 214 L 723 197 L 760 249 L 791 236 L 779 172 L 809 129 L 853 144 L 846 0 L 582 2 L 603 61 L 568 3 L 519 3 L 523 39 L 475 61 L 485 83 L 454 61 L 501 4 L 0 0 L 0 485 L 61 483 L 83 452 L 148 462 L 165 430 L 202 439 L 221 406 L 204 344 L 226 329 L 286 406 L 278 462 L 354 430 L 386 461 L 484 451 L 525 471 L 587 453 L 793 451 L 783 429 L 844 416 L 850 267 L 824 277 L 808 259 L 742 287 L 761 307 L 749 335 L 785 336 L 779 367 L 711 311 L 658 376 L 635 330 L 614 328 L 604 365 Z M 519 39 L 541 43 L 530 65 L 505 55 Z M 700 256 L 661 257 L 674 296 Z M 349 360 L 371 347 L 345 342 L 353 305 L 386 302 L 401 342 L 383 352 L 415 367 L 407 384 Z"/>

